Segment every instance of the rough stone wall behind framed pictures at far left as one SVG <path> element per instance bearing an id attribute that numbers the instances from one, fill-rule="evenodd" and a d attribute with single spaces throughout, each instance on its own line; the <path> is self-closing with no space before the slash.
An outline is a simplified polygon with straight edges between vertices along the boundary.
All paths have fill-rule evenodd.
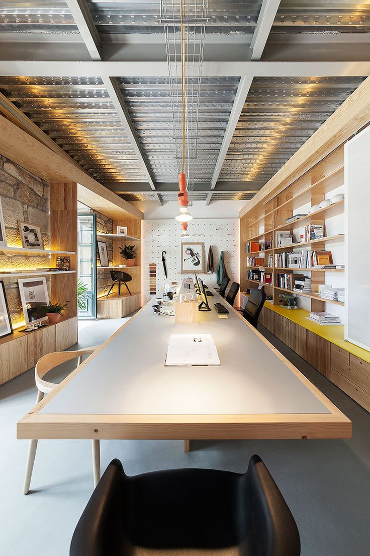
<path id="1" fill-rule="evenodd" d="M 45 248 L 50 247 L 50 185 L 0 156 L 0 199 L 8 246 L 22 247 L 18 220 L 40 226 Z M 0 271 L 49 267 L 48 255 L 12 254 L 0 250 Z M 0 277 L 1 279 L 1 277 Z M 13 326 L 24 322 L 17 277 L 4 278 Z M 50 295 L 50 279 L 47 278 Z"/>

